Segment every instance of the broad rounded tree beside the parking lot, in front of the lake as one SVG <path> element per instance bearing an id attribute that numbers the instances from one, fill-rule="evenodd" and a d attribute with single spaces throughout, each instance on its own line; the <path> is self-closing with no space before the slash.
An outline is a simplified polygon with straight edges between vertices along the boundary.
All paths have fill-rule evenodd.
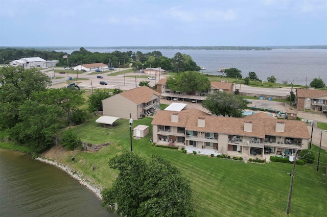
<path id="1" fill-rule="evenodd" d="M 210 84 L 209 79 L 197 71 L 184 71 L 175 77 L 168 77 L 166 82 L 172 90 L 181 93 L 204 92 L 210 89 Z"/>

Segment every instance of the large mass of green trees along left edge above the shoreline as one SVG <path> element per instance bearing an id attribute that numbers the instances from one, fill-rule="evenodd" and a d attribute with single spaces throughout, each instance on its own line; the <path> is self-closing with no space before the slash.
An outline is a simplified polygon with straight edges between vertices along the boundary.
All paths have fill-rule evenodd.
<path id="1" fill-rule="evenodd" d="M 78 109 L 85 101 L 83 90 L 48 89 L 50 78 L 37 68 L 1 67 L 0 83 L 0 130 L 34 153 L 53 146 L 64 127 L 87 118 Z"/>

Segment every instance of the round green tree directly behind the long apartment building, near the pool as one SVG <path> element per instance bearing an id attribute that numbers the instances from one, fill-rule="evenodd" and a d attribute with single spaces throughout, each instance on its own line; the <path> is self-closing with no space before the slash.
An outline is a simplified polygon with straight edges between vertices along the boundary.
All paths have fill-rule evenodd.
<path id="1" fill-rule="evenodd" d="M 232 93 L 217 91 L 203 100 L 202 106 L 212 114 L 242 117 L 243 110 L 247 107 L 247 102 Z"/>

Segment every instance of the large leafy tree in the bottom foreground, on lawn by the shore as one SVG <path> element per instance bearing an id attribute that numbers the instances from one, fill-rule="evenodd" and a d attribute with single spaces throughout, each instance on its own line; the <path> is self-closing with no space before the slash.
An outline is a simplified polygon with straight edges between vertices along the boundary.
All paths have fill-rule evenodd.
<path id="1" fill-rule="evenodd" d="M 119 170 L 111 188 L 102 192 L 103 206 L 121 216 L 194 216 L 190 181 L 171 162 L 124 151 L 109 161 Z M 116 209 L 115 209 L 116 208 Z"/>

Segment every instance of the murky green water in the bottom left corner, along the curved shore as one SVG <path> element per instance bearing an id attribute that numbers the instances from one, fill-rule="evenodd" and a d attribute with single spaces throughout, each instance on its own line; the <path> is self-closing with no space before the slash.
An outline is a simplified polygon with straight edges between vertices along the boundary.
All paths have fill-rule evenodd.
<path id="1" fill-rule="evenodd" d="M 0 149 L 0 216 L 115 216 L 59 168 Z"/>

